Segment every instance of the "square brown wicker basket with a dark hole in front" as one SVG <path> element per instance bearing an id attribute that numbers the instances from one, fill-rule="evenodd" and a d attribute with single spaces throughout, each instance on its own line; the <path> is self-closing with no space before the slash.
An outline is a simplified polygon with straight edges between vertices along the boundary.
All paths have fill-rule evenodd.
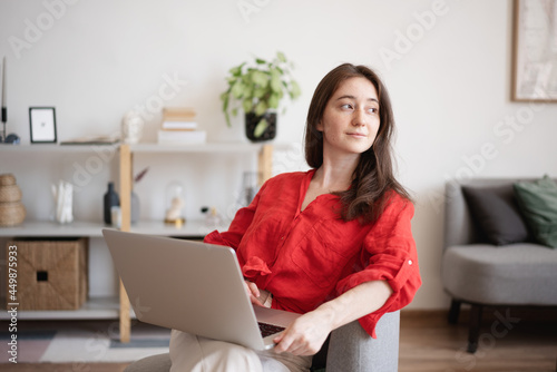
<path id="1" fill-rule="evenodd" d="M 19 310 L 81 307 L 88 287 L 87 243 L 87 238 L 8 242 L 17 247 L 18 292 L 16 298 L 8 296 L 7 304 L 17 302 Z"/>

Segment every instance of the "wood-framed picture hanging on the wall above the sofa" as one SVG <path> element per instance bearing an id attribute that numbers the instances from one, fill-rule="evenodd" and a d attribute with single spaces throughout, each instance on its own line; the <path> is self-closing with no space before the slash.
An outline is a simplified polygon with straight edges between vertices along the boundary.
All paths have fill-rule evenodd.
<path id="1" fill-rule="evenodd" d="M 557 1 L 514 1 L 514 101 L 557 102 L 556 7 Z"/>

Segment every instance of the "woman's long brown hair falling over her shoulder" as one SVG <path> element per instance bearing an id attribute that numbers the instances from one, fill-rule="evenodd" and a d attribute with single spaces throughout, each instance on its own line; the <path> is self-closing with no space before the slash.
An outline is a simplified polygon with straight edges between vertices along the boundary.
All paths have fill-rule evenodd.
<path id="1" fill-rule="evenodd" d="M 359 218 L 362 223 L 374 222 L 389 200 L 389 192 L 397 192 L 410 200 L 410 196 L 393 175 L 391 136 L 394 119 L 389 92 L 379 76 L 365 66 L 343 63 L 330 71 L 317 85 L 313 94 L 305 125 L 305 160 L 310 167 L 323 164 L 323 133 L 317 124 L 323 118 L 326 104 L 342 81 L 363 77 L 373 84 L 379 98 L 380 126 L 373 146 L 360 155 L 348 190 L 338 195 L 341 200 L 341 217 L 344 221 Z"/>

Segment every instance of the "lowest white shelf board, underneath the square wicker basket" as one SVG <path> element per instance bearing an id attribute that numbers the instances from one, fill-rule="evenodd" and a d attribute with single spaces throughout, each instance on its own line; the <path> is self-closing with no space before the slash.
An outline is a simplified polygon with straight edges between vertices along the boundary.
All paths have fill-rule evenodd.
<path id="1" fill-rule="evenodd" d="M 21 310 L 18 311 L 18 321 L 49 321 L 49 320 L 107 320 L 119 316 L 118 297 L 94 297 L 89 298 L 78 310 Z M 130 312 L 130 316 L 135 314 Z M 10 314 L 0 312 L 0 321 L 7 321 Z"/>

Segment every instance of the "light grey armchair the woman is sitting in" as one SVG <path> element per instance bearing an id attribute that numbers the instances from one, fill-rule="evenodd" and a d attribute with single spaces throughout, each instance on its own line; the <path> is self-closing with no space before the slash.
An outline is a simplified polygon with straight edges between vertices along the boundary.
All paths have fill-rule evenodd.
<path id="1" fill-rule="evenodd" d="M 384 314 L 372 339 L 358 321 L 333 331 L 323 349 L 313 358 L 313 371 L 328 372 L 381 371 L 397 372 L 399 365 L 400 312 Z M 326 364 L 326 366 L 324 365 Z M 125 372 L 168 372 L 168 353 L 144 358 Z"/>

